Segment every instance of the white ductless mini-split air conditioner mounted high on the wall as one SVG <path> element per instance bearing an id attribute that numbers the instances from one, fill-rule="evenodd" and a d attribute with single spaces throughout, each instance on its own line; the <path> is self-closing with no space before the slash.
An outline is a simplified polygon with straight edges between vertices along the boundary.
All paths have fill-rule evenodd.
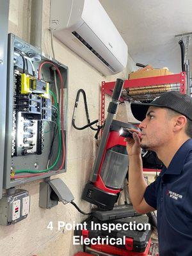
<path id="1" fill-rule="evenodd" d="M 52 0 L 51 29 L 105 76 L 127 65 L 127 45 L 99 0 Z"/>

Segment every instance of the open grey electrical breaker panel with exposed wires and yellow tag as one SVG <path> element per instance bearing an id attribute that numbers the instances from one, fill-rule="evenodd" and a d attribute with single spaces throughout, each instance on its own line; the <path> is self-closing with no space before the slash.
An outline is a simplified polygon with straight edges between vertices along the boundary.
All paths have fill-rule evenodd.
<path id="1" fill-rule="evenodd" d="M 5 189 L 66 172 L 68 68 L 8 35 Z"/>

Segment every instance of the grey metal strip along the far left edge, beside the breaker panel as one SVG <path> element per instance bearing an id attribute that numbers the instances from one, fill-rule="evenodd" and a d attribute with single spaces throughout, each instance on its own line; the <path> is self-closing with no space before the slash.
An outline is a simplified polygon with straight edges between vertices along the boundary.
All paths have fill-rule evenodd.
<path id="1" fill-rule="evenodd" d="M 0 2 L 0 77 L 1 77 L 1 94 L 0 94 L 0 199 L 3 193 L 3 164 L 4 164 L 4 138 L 5 138 L 5 120 L 6 120 L 6 74 L 7 74 L 7 35 L 8 35 L 8 16 L 9 16 L 9 0 L 1 0 Z"/>

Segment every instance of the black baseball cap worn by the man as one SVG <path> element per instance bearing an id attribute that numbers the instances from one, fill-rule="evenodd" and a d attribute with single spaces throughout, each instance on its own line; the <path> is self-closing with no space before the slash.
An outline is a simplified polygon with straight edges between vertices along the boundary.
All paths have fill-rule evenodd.
<path id="1" fill-rule="evenodd" d="M 137 120 L 143 121 L 150 106 L 172 109 L 192 121 L 192 98 L 189 95 L 171 91 L 161 93 L 159 97 L 150 103 L 132 102 L 132 115 Z"/>

